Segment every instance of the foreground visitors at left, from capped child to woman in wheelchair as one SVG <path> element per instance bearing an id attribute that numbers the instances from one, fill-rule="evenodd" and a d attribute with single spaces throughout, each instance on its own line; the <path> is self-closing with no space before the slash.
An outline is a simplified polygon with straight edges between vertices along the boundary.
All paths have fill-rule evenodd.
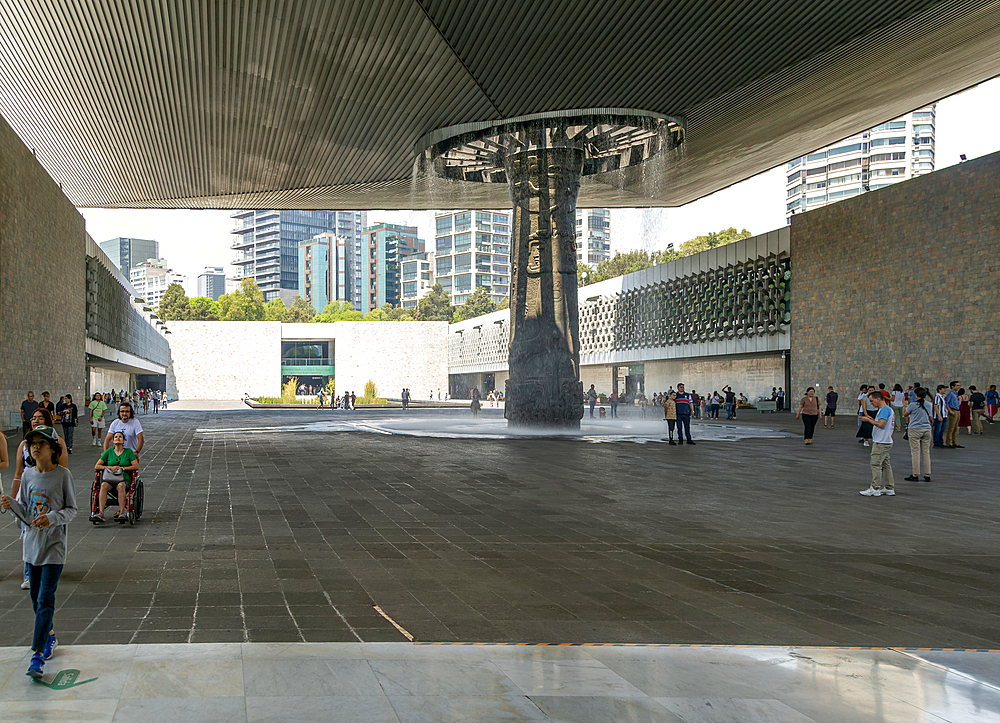
<path id="1" fill-rule="evenodd" d="M 103 422 L 109 402 L 117 404 L 118 415 L 108 425 L 107 436 L 102 439 L 102 454 L 94 466 L 102 474 L 100 513 L 91 517 L 95 522 L 103 520 L 112 485 L 118 491 L 118 515 L 122 514 L 125 486 L 139 469 L 138 454 L 144 444 L 142 425 L 135 419 L 130 395 L 124 391 L 95 393 L 87 405 L 92 444 L 97 445 L 93 420 L 96 416 Z M 57 418 L 63 427 L 62 437 L 55 430 Z M 34 392 L 29 391 L 21 404 L 21 421 L 23 439 L 14 456 L 10 494 L 6 494 L 0 482 L 0 508 L 4 512 L 12 510 L 20 520 L 24 561 L 21 589 L 29 591 L 35 613 L 27 674 L 40 679 L 45 661 L 58 645 L 53 624 L 55 594 L 66 562 L 66 526 L 78 512 L 69 455 L 73 451 L 73 430 L 79 423 L 79 409 L 71 394 L 53 404 L 49 392 L 43 392 L 42 400 L 36 401 Z M 7 440 L 0 433 L 0 471 L 9 464 Z"/>

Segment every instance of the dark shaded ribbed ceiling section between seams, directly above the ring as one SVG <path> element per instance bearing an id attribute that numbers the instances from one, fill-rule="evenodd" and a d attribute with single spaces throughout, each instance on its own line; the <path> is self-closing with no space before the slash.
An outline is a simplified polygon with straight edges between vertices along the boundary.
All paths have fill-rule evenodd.
<path id="1" fill-rule="evenodd" d="M 505 116 L 598 106 L 681 114 L 937 2 L 421 1 Z"/>

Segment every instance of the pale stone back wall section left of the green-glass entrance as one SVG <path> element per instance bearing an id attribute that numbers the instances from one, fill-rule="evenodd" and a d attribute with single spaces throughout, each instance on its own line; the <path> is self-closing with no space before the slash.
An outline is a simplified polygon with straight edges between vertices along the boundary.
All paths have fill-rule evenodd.
<path id="1" fill-rule="evenodd" d="M 167 394 L 242 399 L 281 394 L 281 322 L 171 321 Z"/>

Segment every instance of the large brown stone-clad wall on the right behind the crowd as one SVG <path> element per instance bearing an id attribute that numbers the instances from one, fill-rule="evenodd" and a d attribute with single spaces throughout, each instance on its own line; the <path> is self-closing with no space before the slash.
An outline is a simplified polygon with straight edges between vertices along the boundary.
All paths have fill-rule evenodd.
<path id="1" fill-rule="evenodd" d="M 791 256 L 796 394 L 1000 383 L 1000 153 L 794 216 Z"/>

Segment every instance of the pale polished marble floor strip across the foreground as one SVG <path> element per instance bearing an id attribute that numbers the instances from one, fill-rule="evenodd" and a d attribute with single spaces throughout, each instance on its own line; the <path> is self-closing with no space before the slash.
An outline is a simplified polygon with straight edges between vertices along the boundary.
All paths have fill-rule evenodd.
<path id="1" fill-rule="evenodd" d="M 244 643 L 67 646 L 46 681 L 0 648 L 5 718 L 71 721 L 1000 720 L 1000 653 Z"/>

